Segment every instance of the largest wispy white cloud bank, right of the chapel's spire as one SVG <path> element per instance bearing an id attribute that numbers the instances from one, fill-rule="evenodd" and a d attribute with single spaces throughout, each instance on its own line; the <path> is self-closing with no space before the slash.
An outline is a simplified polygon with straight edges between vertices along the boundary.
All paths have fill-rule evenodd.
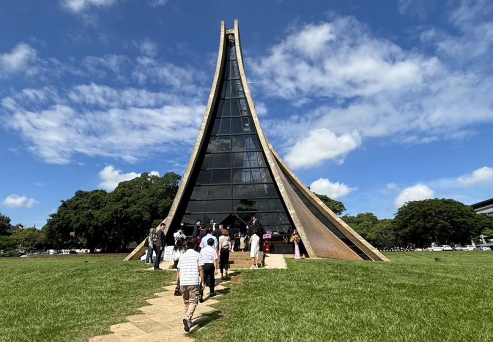
<path id="1" fill-rule="evenodd" d="M 484 17 L 479 12 L 451 16 L 453 25 L 464 28 L 461 41 L 475 27 L 475 18 Z M 479 22 L 482 33 L 475 34 L 484 36 L 481 43 L 470 49 L 458 41 L 447 44 L 456 49 L 450 54 L 465 59 L 469 53 L 461 51 L 483 51 L 475 52 L 482 64 L 442 58 L 439 47 L 435 54 L 421 46 L 403 49 L 354 17 L 296 27 L 267 55 L 249 60 L 259 100 L 277 97 L 299 107 L 291 109 L 290 118 L 269 122 L 268 134 L 280 140 L 289 156 L 296 142 L 306 139 L 302 132 L 322 128 L 336 136 L 357 131 L 361 140 L 392 137 L 405 144 L 474 134 L 474 125 L 493 121 L 493 23 Z"/>

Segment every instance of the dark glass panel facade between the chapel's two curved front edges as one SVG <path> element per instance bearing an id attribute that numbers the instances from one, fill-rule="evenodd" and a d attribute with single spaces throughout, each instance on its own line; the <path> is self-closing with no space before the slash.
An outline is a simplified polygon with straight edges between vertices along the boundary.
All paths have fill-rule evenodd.
<path id="1" fill-rule="evenodd" d="M 197 219 L 206 224 L 214 219 L 244 226 L 255 214 L 263 232 L 291 234 L 293 224 L 274 184 L 245 97 L 234 40 L 226 42 L 220 96 L 189 178 L 192 188 L 185 190 L 182 203 L 186 204 L 179 205 L 172 224 L 182 224 L 187 234 Z"/>

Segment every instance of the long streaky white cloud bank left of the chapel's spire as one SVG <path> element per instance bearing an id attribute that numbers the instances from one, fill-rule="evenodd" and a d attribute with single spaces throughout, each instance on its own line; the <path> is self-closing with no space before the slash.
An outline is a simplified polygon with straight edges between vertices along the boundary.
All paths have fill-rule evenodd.
<path id="1" fill-rule="evenodd" d="M 76 154 L 132 163 L 190 145 L 204 111 L 198 98 L 135 88 L 90 84 L 55 93 L 46 93 L 44 102 L 23 92 L 0 102 L 7 127 L 20 133 L 31 153 L 53 164 L 69 163 Z"/>

